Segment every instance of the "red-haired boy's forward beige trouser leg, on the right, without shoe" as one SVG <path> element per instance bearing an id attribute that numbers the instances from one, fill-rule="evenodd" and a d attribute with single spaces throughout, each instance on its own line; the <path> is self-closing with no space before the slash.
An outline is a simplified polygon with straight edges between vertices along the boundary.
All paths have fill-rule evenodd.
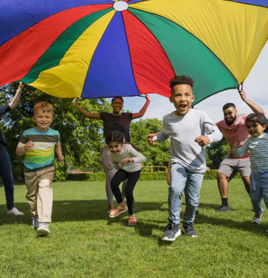
<path id="1" fill-rule="evenodd" d="M 53 181 L 55 168 L 51 167 L 37 172 L 38 177 L 38 195 L 37 211 L 39 222 L 51 222 L 53 190 L 51 183 Z"/>

